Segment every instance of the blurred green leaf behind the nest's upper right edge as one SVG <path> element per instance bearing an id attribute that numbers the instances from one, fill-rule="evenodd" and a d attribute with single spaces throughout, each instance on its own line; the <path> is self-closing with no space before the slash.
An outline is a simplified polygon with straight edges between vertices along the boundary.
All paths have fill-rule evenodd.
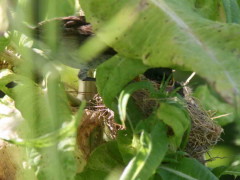
<path id="1" fill-rule="evenodd" d="M 228 114 L 227 116 L 215 119 L 219 125 L 224 126 L 234 121 L 234 108 L 219 100 L 208 86 L 198 86 L 194 91 L 194 96 L 201 102 L 204 109 L 216 112 L 213 115 L 214 117 Z"/>

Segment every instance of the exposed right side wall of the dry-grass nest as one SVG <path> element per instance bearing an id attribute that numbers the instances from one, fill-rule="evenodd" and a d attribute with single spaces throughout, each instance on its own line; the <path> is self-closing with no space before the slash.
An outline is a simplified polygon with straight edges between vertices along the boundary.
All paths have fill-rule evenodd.
<path id="1" fill-rule="evenodd" d="M 191 90 L 184 87 L 186 107 L 192 121 L 186 152 L 204 163 L 204 154 L 220 140 L 223 129 L 216 124 L 209 114 L 201 108 L 198 101 L 191 96 Z"/>

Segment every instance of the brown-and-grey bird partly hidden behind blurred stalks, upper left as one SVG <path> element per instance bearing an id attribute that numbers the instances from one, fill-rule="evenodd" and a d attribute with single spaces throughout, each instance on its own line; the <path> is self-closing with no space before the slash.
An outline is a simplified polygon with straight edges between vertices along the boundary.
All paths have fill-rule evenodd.
<path id="1" fill-rule="evenodd" d="M 59 44 L 57 50 L 54 51 L 53 59 L 57 59 L 61 63 L 80 69 L 78 74 L 79 79 L 83 81 L 94 81 L 95 78 L 88 77 L 88 71 L 90 69 L 96 69 L 96 67 L 111 58 L 117 52 L 106 45 L 106 49 L 97 57 L 91 59 L 90 61 L 79 59 L 78 49 L 84 44 L 90 37 L 94 36 L 92 31 L 92 26 L 84 16 L 68 16 L 63 18 L 55 18 L 52 20 L 40 22 L 33 32 L 37 40 L 43 40 L 43 30 L 49 24 L 57 22 L 60 30 Z"/>

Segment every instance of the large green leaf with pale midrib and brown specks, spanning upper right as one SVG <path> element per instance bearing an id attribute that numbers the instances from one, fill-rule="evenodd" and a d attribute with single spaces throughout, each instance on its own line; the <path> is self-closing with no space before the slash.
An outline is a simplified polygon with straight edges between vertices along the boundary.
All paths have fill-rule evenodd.
<path id="1" fill-rule="evenodd" d="M 226 101 L 239 95 L 240 26 L 202 18 L 189 0 L 82 0 L 95 29 L 101 29 L 121 8 L 135 4 L 138 18 L 112 44 L 109 32 L 99 36 L 120 54 L 154 67 L 178 67 L 205 78 Z M 131 14 L 129 15 L 131 16 Z M 127 21 L 127 19 L 125 19 Z M 122 28 L 126 28 L 124 23 Z M 118 24 L 118 31 L 121 26 Z"/>

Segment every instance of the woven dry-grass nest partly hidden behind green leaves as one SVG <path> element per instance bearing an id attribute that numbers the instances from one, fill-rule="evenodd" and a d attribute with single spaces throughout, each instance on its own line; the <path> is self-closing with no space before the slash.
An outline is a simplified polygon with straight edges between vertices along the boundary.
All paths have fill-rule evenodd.
<path id="1" fill-rule="evenodd" d="M 153 82 L 153 85 L 157 88 L 155 82 Z M 168 89 L 166 91 L 169 91 Z M 185 151 L 189 156 L 205 163 L 204 154 L 208 153 L 217 144 L 223 129 L 211 119 L 210 115 L 200 106 L 200 103 L 192 97 L 189 87 L 185 86 L 183 88 L 183 96 L 192 124 Z M 133 98 L 145 116 L 149 116 L 154 109 L 161 105 L 161 102 L 149 98 L 147 90 L 135 92 Z"/>

